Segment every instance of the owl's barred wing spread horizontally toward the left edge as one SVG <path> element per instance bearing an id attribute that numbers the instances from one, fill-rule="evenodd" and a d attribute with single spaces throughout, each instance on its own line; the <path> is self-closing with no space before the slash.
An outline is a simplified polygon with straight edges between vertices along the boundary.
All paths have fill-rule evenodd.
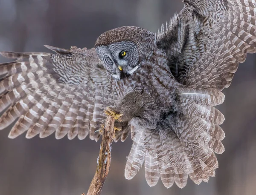
<path id="1" fill-rule="evenodd" d="M 27 131 L 26 138 L 84 139 L 90 132 L 97 141 L 102 105 L 117 96 L 95 49 L 46 47 L 56 54 L 1 52 L 17 60 L 0 64 L 0 129 L 16 121 L 9 138 Z"/>

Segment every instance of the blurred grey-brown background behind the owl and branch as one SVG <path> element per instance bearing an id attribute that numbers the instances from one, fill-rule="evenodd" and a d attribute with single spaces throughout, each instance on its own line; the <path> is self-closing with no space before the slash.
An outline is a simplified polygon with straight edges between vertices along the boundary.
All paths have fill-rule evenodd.
<path id="1" fill-rule="evenodd" d="M 140 26 L 157 32 L 181 0 L 0 0 L 0 51 L 49 52 L 44 44 L 69 49 L 91 48 L 103 32 Z M 0 57 L 0 62 L 6 59 Z M 144 169 L 124 177 L 131 139 L 113 143 L 111 171 L 102 195 L 255 195 L 256 194 L 256 54 L 241 64 L 226 100 L 218 109 L 226 151 L 218 155 L 216 177 L 200 185 L 166 189 L 149 187 Z M 86 138 L 55 140 L 54 135 L 11 140 L 0 132 L 0 195 L 80 195 L 87 192 L 96 170 L 99 142 Z"/>

